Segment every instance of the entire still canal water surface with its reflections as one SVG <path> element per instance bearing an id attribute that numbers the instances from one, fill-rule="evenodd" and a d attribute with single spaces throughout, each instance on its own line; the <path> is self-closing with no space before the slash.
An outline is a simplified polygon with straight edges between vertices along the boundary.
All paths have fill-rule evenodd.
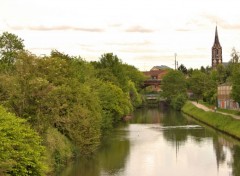
<path id="1" fill-rule="evenodd" d="M 164 107 L 135 111 L 61 176 L 240 176 L 240 142 Z"/>

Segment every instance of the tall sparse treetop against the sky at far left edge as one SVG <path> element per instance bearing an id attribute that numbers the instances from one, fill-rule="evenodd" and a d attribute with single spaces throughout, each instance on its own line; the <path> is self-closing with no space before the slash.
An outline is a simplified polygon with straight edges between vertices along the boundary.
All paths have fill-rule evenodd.
<path id="1" fill-rule="evenodd" d="M 17 53 L 24 50 L 23 40 L 8 32 L 0 36 L 0 58 L 7 65 L 13 64 Z"/>

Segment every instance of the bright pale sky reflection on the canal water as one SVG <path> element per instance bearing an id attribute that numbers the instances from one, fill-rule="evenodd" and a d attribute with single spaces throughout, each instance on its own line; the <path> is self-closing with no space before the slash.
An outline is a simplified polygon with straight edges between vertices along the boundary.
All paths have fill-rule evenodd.
<path id="1" fill-rule="evenodd" d="M 184 143 L 167 141 L 163 133 L 170 131 L 156 130 L 153 127 L 156 125 L 129 126 L 130 154 L 126 168 L 119 175 L 231 175 L 231 167 L 228 165 L 231 162 L 231 152 L 227 147 L 224 149 L 226 159 L 217 167 L 212 138 L 205 137 L 200 143 L 192 136 L 188 136 Z"/>

